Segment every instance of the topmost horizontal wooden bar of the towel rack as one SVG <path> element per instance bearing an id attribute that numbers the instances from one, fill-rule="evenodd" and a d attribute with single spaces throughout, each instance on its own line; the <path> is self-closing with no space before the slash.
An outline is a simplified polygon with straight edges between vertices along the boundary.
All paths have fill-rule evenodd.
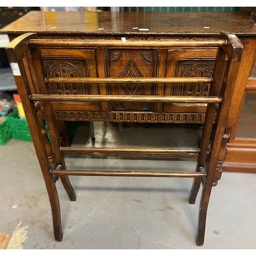
<path id="1" fill-rule="evenodd" d="M 61 40 L 61 39 L 30 39 L 30 47 L 73 47 L 73 48 L 170 48 L 170 47 L 222 47 L 226 40 Z"/>

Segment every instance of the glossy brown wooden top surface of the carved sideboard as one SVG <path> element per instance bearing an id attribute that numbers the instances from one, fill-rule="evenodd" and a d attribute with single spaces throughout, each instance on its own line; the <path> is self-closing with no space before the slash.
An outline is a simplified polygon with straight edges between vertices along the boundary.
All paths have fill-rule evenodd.
<path id="1" fill-rule="evenodd" d="M 255 36 L 243 12 L 40 12 L 31 11 L 0 30 L 5 34 Z M 139 31 L 138 29 L 148 29 Z"/>

